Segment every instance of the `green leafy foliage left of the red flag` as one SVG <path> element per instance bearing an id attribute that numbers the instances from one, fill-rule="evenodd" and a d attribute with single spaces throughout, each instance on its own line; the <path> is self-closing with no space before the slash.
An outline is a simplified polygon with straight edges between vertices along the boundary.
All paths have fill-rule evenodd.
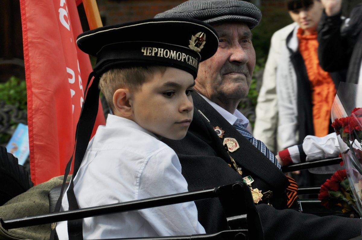
<path id="1" fill-rule="evenodd" d="M 26 110 L 26 83 L 16 77 L 10 77 L 5 83 L 0 83 L 0 100 L 13 105 L 19 110 Z"/>

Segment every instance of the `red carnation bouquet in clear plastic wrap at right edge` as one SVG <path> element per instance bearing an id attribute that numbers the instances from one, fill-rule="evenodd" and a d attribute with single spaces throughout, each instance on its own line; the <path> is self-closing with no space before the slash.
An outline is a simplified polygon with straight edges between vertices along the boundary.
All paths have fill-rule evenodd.
<path id="1" fill-rule="evenodd" d="M 340 83 L 332 105 L 331 116 L 332 127 L 337 134 L 345 166 L 345 175 L 337 171 L 329 181 L 337 179 L 338 190 L 337 186 L 333 186 L 333 184 L 332 188 L 329 188 L 331 183 L 328 185 L 327 180 L 325 183 L 327 185 L 323 184 L 321 187 L 321 193 L 322 189 L 325 191 L 326 187 L 329 188 L 329 201 L 333 202 L 338 199 L 338 203 L 343 206 L 343 212 L 354 210 L 355 213 L 362 216 L 362 108 L 356 108 L 356 106 L 362 107 L 362 98 L 358 96 L 362 96 L 362 85 Z M 338 191 L 343 196 L 337 193 Z M 323 194 L 319 198 L 322 197 Z"/>

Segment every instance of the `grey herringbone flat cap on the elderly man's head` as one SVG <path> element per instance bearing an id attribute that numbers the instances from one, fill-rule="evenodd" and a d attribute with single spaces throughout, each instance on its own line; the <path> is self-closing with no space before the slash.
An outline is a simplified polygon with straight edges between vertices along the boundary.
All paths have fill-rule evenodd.
<path id="1" fill-rule="evenodd" d="M 250 29 L 261 20 L 260 10 L 252 3 L 238 0 L 189 0 L 159 13 L 155 18 L 186 17 L 211 25 L 222 22 L 245 22 Z"/>

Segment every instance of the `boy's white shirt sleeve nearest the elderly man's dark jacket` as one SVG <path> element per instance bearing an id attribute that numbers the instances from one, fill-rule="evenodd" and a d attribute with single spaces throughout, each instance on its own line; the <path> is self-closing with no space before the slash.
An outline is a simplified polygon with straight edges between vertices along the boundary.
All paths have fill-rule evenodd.
<path id="1" fill-rule="evenodd" d="M 174 151 L 167 147 L 148 159 L 139 178 L 137 199 L 165 196 L 188 191 L 181 174 L 181 164 Z M 184 202 L 139 210 L 160 236 L 205 233 L 198 222 L 194 202 Z"/>

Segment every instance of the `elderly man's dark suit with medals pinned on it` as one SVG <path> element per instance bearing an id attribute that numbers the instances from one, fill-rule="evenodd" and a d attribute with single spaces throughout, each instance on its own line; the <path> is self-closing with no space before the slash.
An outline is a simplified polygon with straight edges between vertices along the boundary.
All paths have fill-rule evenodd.
<path id="1" fill-rule="evenodd" d="M 243 177 L 251 175 L 255 180 L 253 188 L 262 193 L 271 190 L 273 206 L 259 202 L 257 210 L 261 217 L 265 239 L 350 239 L 361 235 L 362 221 L 341 217 L 317 217 L 285 209 L 285 189 L 289 185 L 286 176 L 230 125 L 209 103 L 197 93 L 192 93 L 194 116 L 186 137 L 174 141 L 163 139 L 172 147 L 181 162 L 182 175 L 189 184 L 189 190 L 213 188 L 235 181 L 242 181 L 228 164 L 231 160 L 222 139 L 213 127 L 224 130 L 224 138 L 232 137 L 240 149 L 230 153 L 243 171 Z M 198 112 L 200 110 L 210 121 Z M 227 229 L 226 219 L 218 199 L 196 201 L 199 222 L 207 233 Z M 235 206 L 237 207 L 237 206 Z M 281 210 L 285 209 L 285 210 Z"/>

